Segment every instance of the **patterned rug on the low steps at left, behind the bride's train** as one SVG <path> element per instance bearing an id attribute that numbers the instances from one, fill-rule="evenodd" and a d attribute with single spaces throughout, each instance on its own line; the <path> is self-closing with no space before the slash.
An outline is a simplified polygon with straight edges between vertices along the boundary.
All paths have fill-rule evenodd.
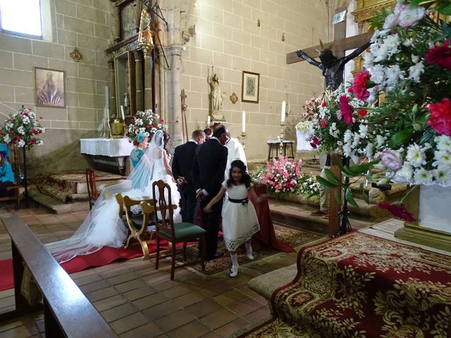
<path id="1" fill-rule="evenodd" d="M 103 171 L 96 171 L 96 179 L 106 181 L 121 180 L 123 176 Z M 33 178 L 37 189 L 42 194 L 49 195 L 58 201 L 68 203 L 71 195 L 86 194 L 86 175 L 84 171 L 73 171 L 65 173 L 40 174 Z M 86 199 L 87 200 L 87 199 Z"/>

